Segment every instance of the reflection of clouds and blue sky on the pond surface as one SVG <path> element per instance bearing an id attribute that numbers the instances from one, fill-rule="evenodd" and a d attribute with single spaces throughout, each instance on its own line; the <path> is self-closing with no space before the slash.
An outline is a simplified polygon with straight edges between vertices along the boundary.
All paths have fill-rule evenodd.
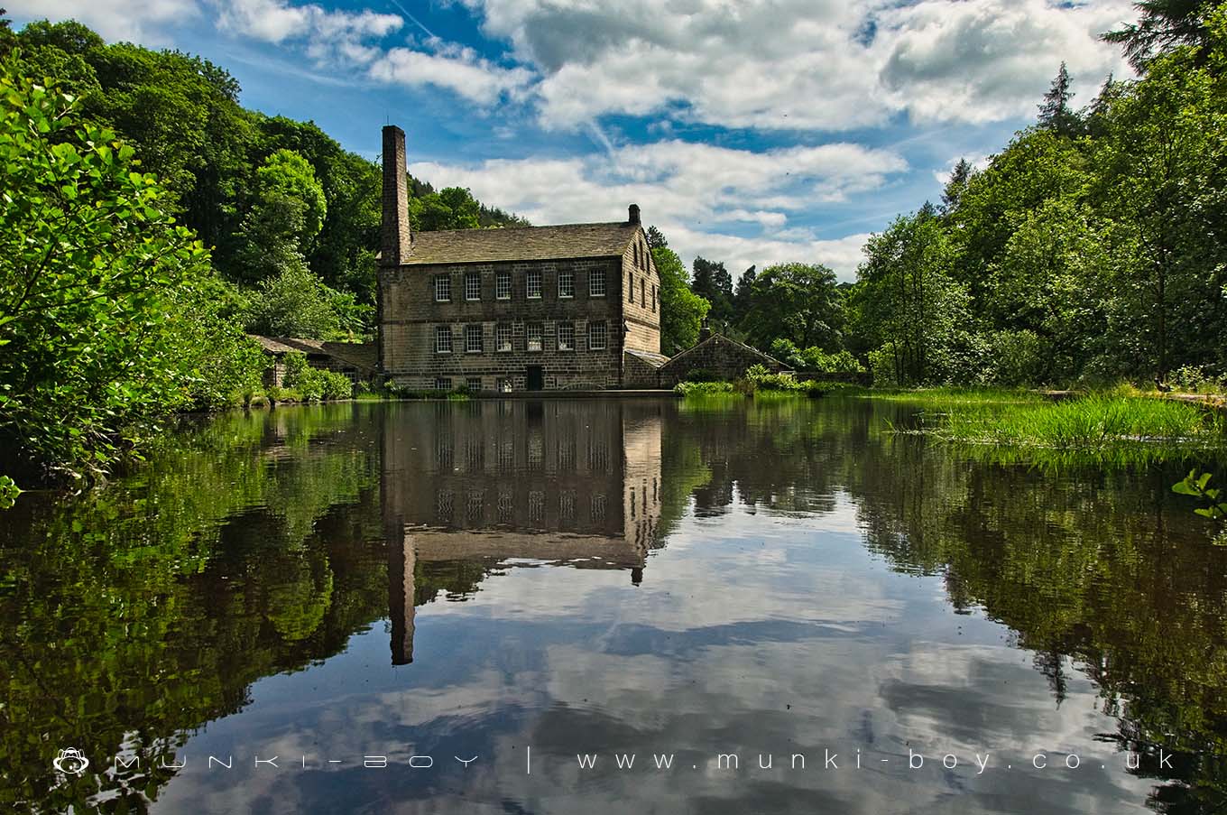
<path id="1" fill-rule="evenodd" d="M 865 551 L 855 509 L 789 519 L 734 504 L 715 522 L 685 518 L 649 557 L 643 585 L 625 572 L 513 568 L 466 603 L 418 609 L 412 665 L 387 666 L 382 626 L 309 670 L 253 687 L 243 717 L 222 719 L 185 752 L 225 745 L 347 760 L 388 770 L 211 777 L 190 768 L 167 811 L 677 811 L 1121 813 L 1146 782 L 1097 743 L 1113 729 L 1094 687 L 1070 674 L 1053 702 L 1006 630 L 951 615 L 936 578 L 890 572 Z M 306 700 L 306 701 L 304 701 Z M 533 776 L 523 771 L 533 745 Z M 825 749 L 840 770 L 822 770 Z M 854 750 L 865 766 L 853 768 Z M 908 749 L 926 756 L 906 768 Z M 221 747 L 218 747 L 221 749 Z M 1038 749 L 1079 751 L 1085 768 L 1020 765 Z M 638 754 L 633 772 L 583 772 L 575 752 Z M 937 762 L 955 752 L 955 771 Z M 973 752 L 991 766 L 977 776 Z M 433 774 L 407 768 L 431 754 Z M 643 770 L 653 752 L 677 770 Z M 737 752 L 737 773 L 712 766 Z M 760 752 L 773 756 L 758 770 Z M 802 752 L 805 771 L 787 768 Z M 461 770 L 450 756 L 480 755 Z M 887 759 L 883 765 L 880 759 Z M 1117 760 L 1113 760 L 1117 759 Z M 1005 770 L 1006 761 L 1015 770 Z M 1053 763 L 1056 763 L 1055 760 Z M 1108 771 L 1098 770 L 1108 763 Z M 1093 766 L 1092 766 L 1093 765 Z M 236 779 L 238 778 L 238 779 Z M 200 801 L 204 801 L 202 804 Z M 685 801 L 685 803 L 683 803 Z"/>

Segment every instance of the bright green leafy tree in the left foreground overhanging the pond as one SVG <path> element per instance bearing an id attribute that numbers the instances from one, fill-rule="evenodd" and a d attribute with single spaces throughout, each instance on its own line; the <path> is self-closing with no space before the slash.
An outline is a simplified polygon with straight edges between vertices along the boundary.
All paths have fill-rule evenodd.
<path id="1" fill-rule="evenodd" d="M 209 255 L 135 152 L 0 66 L 0 449 L 27 471 L 104 473 L 142 420 L 191 404 L 187 372 L 237 330 L 187 328 Z"/>

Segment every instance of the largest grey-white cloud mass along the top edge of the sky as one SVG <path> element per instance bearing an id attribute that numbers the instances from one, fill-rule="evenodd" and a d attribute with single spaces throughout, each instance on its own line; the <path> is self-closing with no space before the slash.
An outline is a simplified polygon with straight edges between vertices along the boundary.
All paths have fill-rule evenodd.
<path id="1" fill-rule="evenodd" d="M 605 114 L 847 130 L 1028 114 L 1061 59 L 1080 88 L 1123 70 L 1101 32 L 1128 0 L 464 0 L 541 72 L 546 126 Z"/>

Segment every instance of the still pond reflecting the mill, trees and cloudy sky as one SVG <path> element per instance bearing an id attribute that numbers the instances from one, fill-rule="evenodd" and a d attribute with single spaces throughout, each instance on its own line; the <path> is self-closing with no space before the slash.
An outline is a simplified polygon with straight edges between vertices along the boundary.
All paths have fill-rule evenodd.
<path id="1" fill-rule="evenodd" d="M 1187 465 L 994 464 L 913 414 L 184 423 L 0 514 L 0 804 L 1221 811 L 1227 552 Z"/>

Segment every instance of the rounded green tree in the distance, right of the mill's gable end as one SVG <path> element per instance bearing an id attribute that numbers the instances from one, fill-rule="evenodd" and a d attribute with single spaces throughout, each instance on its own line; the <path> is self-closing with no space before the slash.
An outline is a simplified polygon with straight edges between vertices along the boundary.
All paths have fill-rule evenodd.
<path id="1" fill-rule="evenodd" d="M 753 280 L 742 329 L 760 349 L 777 339 L 799 349 L 842 349 L 843 295 L 836 272 L 820 264 L 768 266 Z"/>

